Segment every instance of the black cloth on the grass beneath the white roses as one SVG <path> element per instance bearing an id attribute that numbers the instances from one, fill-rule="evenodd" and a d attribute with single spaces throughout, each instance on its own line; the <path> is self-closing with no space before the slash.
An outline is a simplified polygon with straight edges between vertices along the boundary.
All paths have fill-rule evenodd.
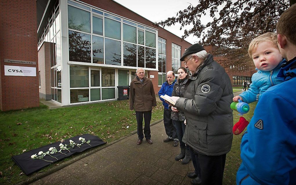
<path id="1" fill-rule="evenodd" d="M 38 152 L 40 152 L 40 151 L 43 151 L 45 153 L 45 152 L 49 151 L 50 147 L 56 147 L 57 150 L 59 151 L 60 150 L 59 144 L 61 143 L 60 141 L 48 144 L 44 147 L 30 150 L 30 151 L 22 153 L 20 155 L 14 155 L 14 156 L 12 156 L 12 159 L 15 161 L 15 163 L 20 167 L 20 169 L 26 175 L 30 175 L 30 174 L 40 170 L 41 168 L 44 168 L 44 167 L 52 164 L 53 162 L 62 160 L 66 157 L 69 157 L 69 156 L 75 154 L 75 153 L 80 153 L 80 152 L 85 151 L 86 149 L 97 147 L 99 145 L 106 143 L 97 136 L 94 136 L 91 134 L 83 134 L 80 136 L 75 136 L 75 137 L 66 139 L 64 142 L 62 142 L 62 144 L 64 144 L 64 145 L 67 144 L 68 145 L 67 147 L 70 147 L 70 141 L 69 141 L 70 139 L 77 144 L 81 144 L 81 141 L 79 141 L 80 137 L 83 137 L 85 139 L 85 141 L 90 140 L 90 143 L 89 143 L 90 145 L 87 143 L 84 143 L 80 146 L 80 148 L 78 146 L 75 146 L 73 149 L 69 149 L 70 152 L 68 150 L 62 150 L 62 152 L 66 155 L 59 153 L 59 152 L 51 154 L 53 157 L 56 157 L 57 159 L 50 157 L 49 155 L 44 156 L 45 160 L 52 161 L 52 162 L 44 161 L 42 159 L 31 159 L 31 155 L 34 155 L 34 154 L 38 155 Z"/>

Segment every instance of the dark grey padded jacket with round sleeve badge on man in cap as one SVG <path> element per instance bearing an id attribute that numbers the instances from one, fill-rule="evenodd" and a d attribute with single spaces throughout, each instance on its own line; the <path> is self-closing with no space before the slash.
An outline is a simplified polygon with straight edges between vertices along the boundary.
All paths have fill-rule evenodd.
<path id="1" fill-rule="evenodd" d="M 203 155 L 223 155 L 230 151 L 233 137 L 231 81 L 211 54 L 204 63 L 188 79 L 184 98 L 176 101 L 187 123 L 182 141 Z"/>

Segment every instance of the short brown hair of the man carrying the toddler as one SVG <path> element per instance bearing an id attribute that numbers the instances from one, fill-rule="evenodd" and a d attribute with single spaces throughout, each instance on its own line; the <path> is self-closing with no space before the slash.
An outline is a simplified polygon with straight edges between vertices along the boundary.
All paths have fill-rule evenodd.
<path id="1" fill-rule="evenodd" d="M 281 14 L 276 24 L 276 32 L 284 35 L 296 45 L 296 4 L 293 4 Z"/>

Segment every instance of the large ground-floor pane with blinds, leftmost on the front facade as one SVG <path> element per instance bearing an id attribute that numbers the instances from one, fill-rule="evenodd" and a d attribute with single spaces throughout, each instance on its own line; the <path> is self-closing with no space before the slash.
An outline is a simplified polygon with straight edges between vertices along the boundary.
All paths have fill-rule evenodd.
<path id="1" fill-rule="evenodd" d="M 76 87 L 89 87 L 89 67 L 70 65 L 70 88 Z"/>

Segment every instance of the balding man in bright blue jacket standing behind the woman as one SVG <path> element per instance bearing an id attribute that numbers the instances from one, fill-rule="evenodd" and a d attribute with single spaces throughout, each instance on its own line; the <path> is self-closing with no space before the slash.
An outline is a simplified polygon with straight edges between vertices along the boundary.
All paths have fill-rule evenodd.
<path id="1" fill-rule="evenodd" d="M 161 95 L 168 95 L 172 96 L 173 87 L 176 82 L 175 73 L 173 71 L 168 71 L 167 73 L 167 81 L 163 83 L 161 86 L 158 96 Z M 177 136 L 176 128 L 173 126 L 172 120 L 170 119 L 171 110 L 169 110 L 168 104 L 165 102 L 164 99 L 160 98 L 161 101 L 163 101 L 163 124 L 165 125 L 165 133 L 168 135 L 166 139 L 163 140 L 163 142 L 169 142 L 174 141 L 173 146 L 178 146 L 179 140 Z"/>

